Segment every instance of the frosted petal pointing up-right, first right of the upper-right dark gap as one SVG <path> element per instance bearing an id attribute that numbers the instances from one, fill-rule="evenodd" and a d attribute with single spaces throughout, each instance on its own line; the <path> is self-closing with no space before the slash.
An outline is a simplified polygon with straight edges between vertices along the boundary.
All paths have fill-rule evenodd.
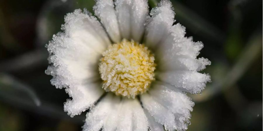
<path id="1" fill-rule="evenodd" d="M 150 15 L 146 25 L 145 44 L 154 49 L 170 33 L 174 23 L 172 3 L 168 0 L 160 1 L 157 7 L 151 10 Z"/>

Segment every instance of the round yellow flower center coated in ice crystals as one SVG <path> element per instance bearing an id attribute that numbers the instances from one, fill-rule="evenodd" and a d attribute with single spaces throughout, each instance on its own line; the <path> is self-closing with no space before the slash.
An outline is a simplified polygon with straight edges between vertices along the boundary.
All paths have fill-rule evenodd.
<path id="1" fill-rule="evenodd" d="M 154 56 L 143 44 L 124 39 L 111 45 L 102 55 L 99 71 L 105 91 L 135 98 L 146 92 L 155 80 Z"/>

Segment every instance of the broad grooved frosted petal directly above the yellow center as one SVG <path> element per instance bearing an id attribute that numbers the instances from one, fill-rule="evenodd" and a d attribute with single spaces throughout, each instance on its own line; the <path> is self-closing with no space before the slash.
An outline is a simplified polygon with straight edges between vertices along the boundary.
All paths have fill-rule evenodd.
<path id="1" fill-rule="evenodd" d="M 116 11 L 122 38 L 141 40 L 148 15 L 146 0 L 116 0 Z"/>

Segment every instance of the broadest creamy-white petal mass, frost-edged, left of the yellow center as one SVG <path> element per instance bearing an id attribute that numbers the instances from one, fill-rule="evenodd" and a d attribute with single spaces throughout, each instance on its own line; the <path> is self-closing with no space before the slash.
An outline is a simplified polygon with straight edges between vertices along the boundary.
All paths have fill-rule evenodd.
<path id="1" fill-rule="evenodd" d="M 85 12 L 85 11 L 84 11 Z M 75 10 L 65 17 L 65 30 L 46 45 L 51 65 L 46 73 L 53 76 L 57 88 L 82 84 L 98 73 L 97 61 L 110 41 L 98 20 L 87 12 Z"/>

